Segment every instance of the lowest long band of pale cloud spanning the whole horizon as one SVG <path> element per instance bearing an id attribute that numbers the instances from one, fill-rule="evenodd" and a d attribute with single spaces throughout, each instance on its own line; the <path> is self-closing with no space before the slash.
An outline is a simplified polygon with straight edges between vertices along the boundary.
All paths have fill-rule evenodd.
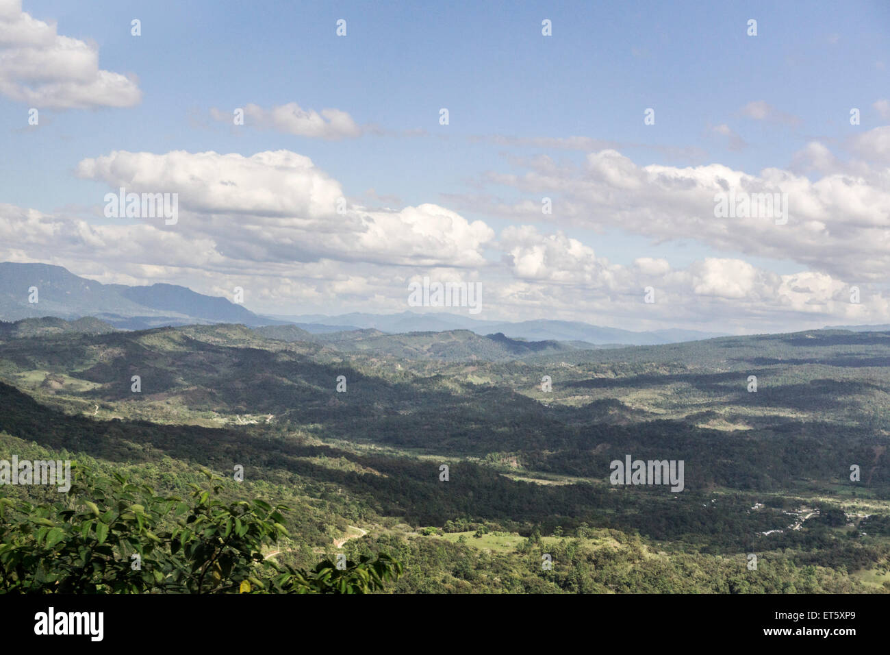
<path id="1" fill-rule="evenodd" d="M 437 233 L 451 218 L 443 215 L 445 224 L 426 229 Z M 664 258 L 637 258 L 620 266 L 577 239 L 541 233 L 534 225 L 507 227 L 492 245 L 502 260 L 470 268 L 384 259 L 251 259 L 231 251 L 224 239 L 162 222 L 91 225 L 0 204 L 0 260 L 44 261 L 101 282 L 173 282 L 223 296 L 241 286 L 247 307 L 271 314 L 331 313 L 332 299 L 345 311 L 400 312 L 409 308 L 408 282 L 429 275 L 440 282 L 481 282 L 479 318 L 769 332 L 886 323 L 890 316 L 886 293 L 874 285 L 862 284 L 862 301 L 854 304 L 849 282 L 817 272 L 775 274 L 736 258 L 705 258 L 685 268 Z M 643 303 L 648 286 L 655 290 L 652 305 Z"/>

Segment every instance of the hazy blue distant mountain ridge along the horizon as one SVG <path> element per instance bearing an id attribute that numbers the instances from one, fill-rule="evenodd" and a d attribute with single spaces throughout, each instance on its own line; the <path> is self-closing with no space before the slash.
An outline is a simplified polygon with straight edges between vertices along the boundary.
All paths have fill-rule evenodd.
<path id="1" fill-rule="evenodd" d="M 28 301 L 36 287 L 37 302 Z M 722 332 L 667 329 L 634 332 L 578 321 L 536 319 L 510 323 L 484 321 L 445 312 L 376 315 L 257 315 L 230 300 L 206 296 L 187 287 L 103 284 L 72 274 L 62 266 L 0 263 L 0 320 L 56 316 L 67 321 L 93 316 L 117 329 L 145 330 L 164 325 L 241 323 L 248 327 L 291 325 L 311 334 L 379 330 L 390 334 L 468 330 L 480 336 L 502 334 L 509 340 L 561 341 L 595 346 L 656 346 L 727 336 Z M 289 335 L 293 338 L 297 332 Z M 506 344 L 501 344 L 506 348 Z M 552 348 L 550 344 L 544 348 Z"/>

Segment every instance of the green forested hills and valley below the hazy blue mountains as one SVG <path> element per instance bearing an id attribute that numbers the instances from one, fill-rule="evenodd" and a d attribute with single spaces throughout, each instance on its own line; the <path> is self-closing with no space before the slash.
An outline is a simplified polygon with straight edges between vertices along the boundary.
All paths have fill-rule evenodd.
<path id="1" fill-rule="evenodd" d="M 214 512 L 268 506 L 255 520 L 279 526 L 216 590 L 252 577 L 252 592 L 318 591 L 318 576 L 352 589 L 331 568 L 340 554 L 352 581 L 380 578 L 355 587 L 376 593 L 890 591 L 887 332 L 585 349 L 464 331 L 100 328 L 4 328 L 0 460 L 71 460 L 80 476 L 77 494 L 0 486 L 0 566 L 16 579 L 13 550 L 82 557 L 72 526 L 121 485 L 151 489 L 135 504 L 157 505 L 161 579 L 88 584 L 206 592 L 174 580 L 194 562 L 171 544 L 214 493 L 211 471 Z M 611 484 L 627 455 L 683 462 L 683 491 Z M 28 507 L 48 521 L 32 541 Z M 119 539 L 109 561 L 152 541 Z M 262 577 L 272 565 L 283 586 Z"/>

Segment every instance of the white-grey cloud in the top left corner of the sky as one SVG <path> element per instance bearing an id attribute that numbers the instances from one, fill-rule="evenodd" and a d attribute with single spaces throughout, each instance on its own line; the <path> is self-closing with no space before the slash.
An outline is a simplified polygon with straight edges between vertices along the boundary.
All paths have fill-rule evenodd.
<path id="1" fill-rule="evenodd" d="M 132 107 L 142 100 L 135 80 L 99 68 L 99 52 L 55 25 L 0 0 L 0 94 L 37 108 Z"/>

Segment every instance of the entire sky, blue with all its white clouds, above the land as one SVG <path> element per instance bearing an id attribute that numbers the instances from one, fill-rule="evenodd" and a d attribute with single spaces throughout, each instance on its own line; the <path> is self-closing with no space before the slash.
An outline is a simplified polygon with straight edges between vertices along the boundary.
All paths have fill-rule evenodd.
<path id="1" fill-rule="evenodd" d="M 270 315 L 440 311 L 427 277 L 490 320 L 890 323 L 888 35 L 886 2 L 0 0 L 0 261 Z"/>

